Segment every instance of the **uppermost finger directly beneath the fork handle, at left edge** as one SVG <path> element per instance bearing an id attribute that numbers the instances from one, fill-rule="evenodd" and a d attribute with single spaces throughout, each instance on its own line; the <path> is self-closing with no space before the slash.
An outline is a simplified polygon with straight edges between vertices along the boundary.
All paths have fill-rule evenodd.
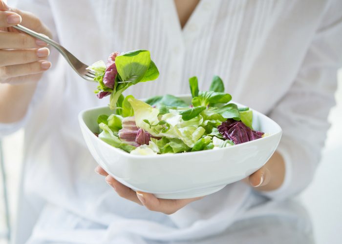
<path id="1" fill-rule="evenodd" d="M 47 46 L 47 43 L 23 33 L 0 32 L 0 49 L 24 49 Z"/>

